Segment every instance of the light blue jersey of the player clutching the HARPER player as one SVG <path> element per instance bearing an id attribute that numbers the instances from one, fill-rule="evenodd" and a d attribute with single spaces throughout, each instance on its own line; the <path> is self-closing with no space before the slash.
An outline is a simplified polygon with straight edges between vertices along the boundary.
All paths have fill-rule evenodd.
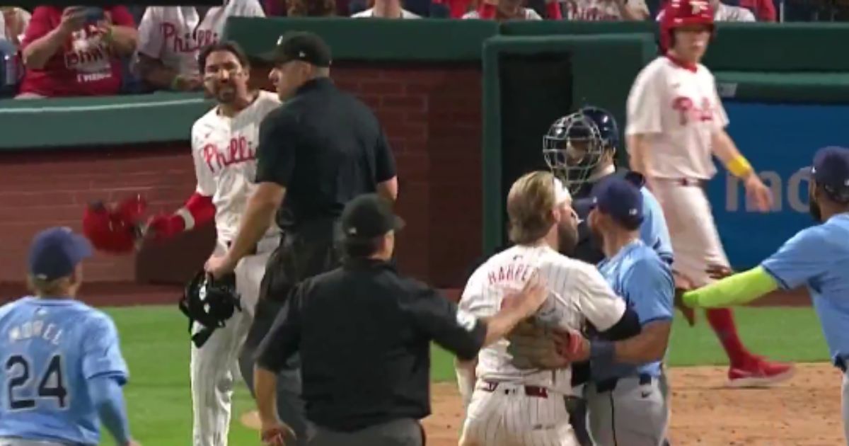
<path id="1" fill-rule="evenodd" d="M 616 294 L 637 313 L 640 325 L 658 320 L 672 320 L 672 297 L 675 285 L 672 268 L 642 240 L 624 246 L 614 257 L 599 263 L 599 271 Z M 648 374 L 661 375 L 661 362 L 649 364 L 613 364 L 603 370 L 593 369 L 593 380 Z"/>

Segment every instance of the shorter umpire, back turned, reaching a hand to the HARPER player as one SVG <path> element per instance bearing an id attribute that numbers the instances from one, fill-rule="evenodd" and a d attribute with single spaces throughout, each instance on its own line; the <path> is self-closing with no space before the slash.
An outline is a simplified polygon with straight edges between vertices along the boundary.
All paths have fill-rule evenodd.
<path id="1" fill-rule="evenodd" d="M 278 370 L 300 352 L 311 446 L 417 446 L 430 415 L 430 342 L 475 358 L 534 313 L 548 291 L 537 279 L 492 318 L 459 311 L 438 291 L 399 275 L 389 260 L 400 218 L 378 195 L 346 206 L 343 266 L 306 279 L 262 342 L 256 363 L 263 440 L 286 426 L 275 414 Z"/>

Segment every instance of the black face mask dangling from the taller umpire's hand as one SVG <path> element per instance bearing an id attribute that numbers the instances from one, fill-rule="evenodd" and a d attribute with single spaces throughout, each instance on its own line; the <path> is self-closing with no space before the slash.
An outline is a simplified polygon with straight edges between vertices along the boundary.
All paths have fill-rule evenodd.
<path id="1" fill-rule="evenodd" d="M 236 275 L 228 274 L 214 279 L 211 274 L 201 270 L 186 285 L 180 310 L 188 317 L 188 332 L 192 332 L 195 322 L 203 328 L 192 336 L 196 347 L 202 347 L 212 336 L 212 332 L 226 325 L 238 309 L 242 311 L 239 293 L 236 292 Z"/>

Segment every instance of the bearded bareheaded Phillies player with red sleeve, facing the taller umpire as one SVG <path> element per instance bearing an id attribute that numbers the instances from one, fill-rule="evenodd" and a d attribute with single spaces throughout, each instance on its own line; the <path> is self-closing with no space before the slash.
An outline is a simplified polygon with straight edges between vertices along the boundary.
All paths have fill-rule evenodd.
<path id="1" fill-rule="evenodd" d="M 148 229 L 158 240 L 213 220 L 216 225 L 216 251 L 226 251 L 239 230 L 250 195 L 256 189 L 256 145 L 262 119 L 280 102 L 277 95 L 251 91 L 250 66 L 245 53 L 233 42 L 219 42 L 200 53 L 204 86 L 215 96 L 217 105 L 192 127 L 192 157 L 198 185 L 194 194 L 171 215 L 153 217 Z M 269 229 L 254 246 L 253 254 L 236 267 L 236 290 L 243 311 L 236 312 L 227 325 L 216 330 L 202 347 L 191 347 L 190 375 L 194 408 L 194 446 L 226 446 L 230 426 L 230 401 L 239 351 L 252 322 L 268 256 L 278 246 L 279 234 Z M 194 330 L 202 328 L 195 325 Z M 251 365 L 252 367 L 252 365 Z M 252 376 L 252 370 L 242 370 Z M 281 416 L 296 431 L 297 412 Z M 294 418 L 294 419 L 293 419 Z M 298 432 L 301 433 L 301 432 Z"/>

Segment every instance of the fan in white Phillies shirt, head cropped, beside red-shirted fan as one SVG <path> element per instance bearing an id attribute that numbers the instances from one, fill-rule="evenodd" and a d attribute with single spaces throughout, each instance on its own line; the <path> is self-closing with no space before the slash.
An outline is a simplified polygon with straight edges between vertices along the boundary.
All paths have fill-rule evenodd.
<path id="1" fill-rule="evenodd" d="M 198 54 L 218 42 L 230 17 L 265 17 L 259 0 L 227 0 L 223 6 L 149 6 L 138 24 L 136 71 L 151 88 L 203 88 Z"/>

